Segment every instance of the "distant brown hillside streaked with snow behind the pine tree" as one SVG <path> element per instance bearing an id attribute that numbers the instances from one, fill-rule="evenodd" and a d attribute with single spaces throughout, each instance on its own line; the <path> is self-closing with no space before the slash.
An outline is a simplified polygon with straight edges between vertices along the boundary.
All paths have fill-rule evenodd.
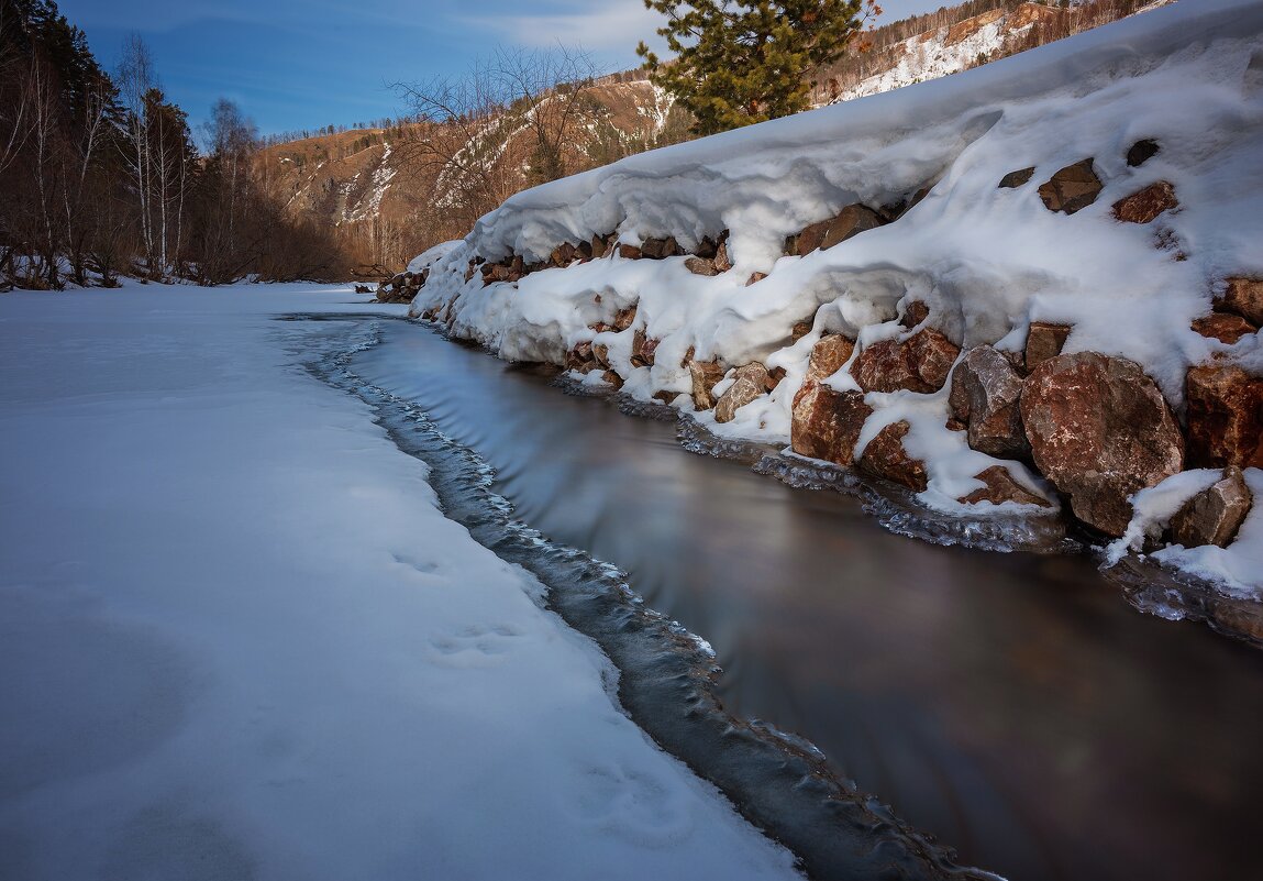
<path id="1" fill-rule="evenodd" d="M 970 0 L 938 13 L 895 21 L 866 34 L 868 51 L 839 62 L 820 77 L 817 106 L 932 80 L 1032 46 L 1087 29 L 1148 5 L 1135 0 L 1095 0 L 1072 10 L 1033 3 L 1012 9 L 1003 0 Z M 595 81 L 582 91 L 582 112 L 571 129 L 567 172 L 577 172 L 676 143 L 687 120 L 671 96 L 640 72 Z M 532 169 L 529 115 L 509 107 L 489 115 L 477 134 L 422 123 L 352 129 L 265 148 L 260 172 L 290 210 L 335 229 L 359 273 L 398 272 L 413 254 L 464 235 L 500 201 L 539 181 Z M 481 200 L 455 192 L 442 162 L 458 155 L 452 138 L 475 138 L 496 157 L 494 178 Z M 427 149 L 433 142 L 440 149 Z M 440 210 L 436 210 L 436 206 Z"/>

